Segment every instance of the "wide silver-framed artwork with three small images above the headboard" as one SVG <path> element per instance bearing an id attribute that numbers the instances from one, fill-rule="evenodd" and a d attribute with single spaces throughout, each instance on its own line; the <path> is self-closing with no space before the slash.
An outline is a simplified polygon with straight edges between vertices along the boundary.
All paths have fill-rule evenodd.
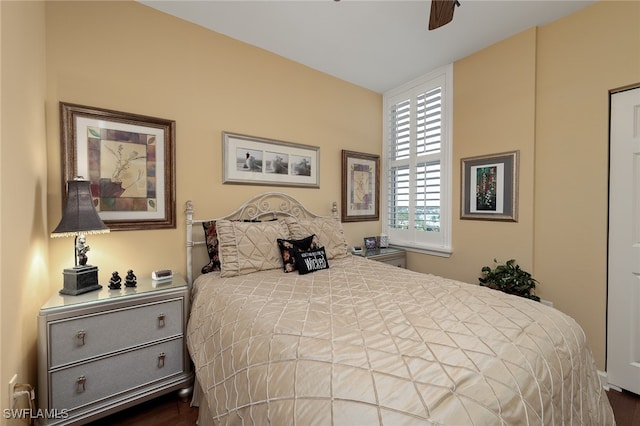
<path id="1" fill-rule="evenodd" d="M 320 188 L 320 148 L 222 132 L 222 183 Z"/>

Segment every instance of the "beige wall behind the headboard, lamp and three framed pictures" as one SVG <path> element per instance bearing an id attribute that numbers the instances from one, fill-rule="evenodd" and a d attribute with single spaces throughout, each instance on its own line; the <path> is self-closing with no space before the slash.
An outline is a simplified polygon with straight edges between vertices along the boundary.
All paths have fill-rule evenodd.
<path id="1" fill-rule="evenodd" d="M 100 19 L 95 19 L 99 16 Z M 250 195 L 286 191 L 312 211 L 340 201 L 341 150 L 379 154 L 382 99 L 279 56 L 135 2 L 47 3 L 48 213 L 60 219 L 58 102 L 176 121 L 175 230 L 91 236 L 90 263 L 114 270 L 185 272 L 184 205 L 196 217 L 231 212 Z M 320 189 L 222 184 L 221 132 L 320 146 Z M 379 222 L 345 225 L 350 239 Z M 51 240 L 52 284 L 73 262 L 72 242 Z"/>

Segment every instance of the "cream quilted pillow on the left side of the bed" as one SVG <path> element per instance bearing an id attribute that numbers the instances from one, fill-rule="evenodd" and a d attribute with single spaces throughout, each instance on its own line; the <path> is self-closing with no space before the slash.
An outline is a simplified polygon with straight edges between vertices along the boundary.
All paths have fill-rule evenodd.
<path id="1" fill-rule="evenodd" d="M 270 222 L 216 223 L 222 277 L 250 274 L 282 268 L 276 240 L 289 238 L 289 228 L 282 220 Z"/>

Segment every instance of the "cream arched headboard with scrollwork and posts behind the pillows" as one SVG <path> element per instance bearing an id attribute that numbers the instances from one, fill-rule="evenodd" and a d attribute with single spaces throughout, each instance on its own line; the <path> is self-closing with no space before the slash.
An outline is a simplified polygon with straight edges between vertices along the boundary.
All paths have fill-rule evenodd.
<path id="1" fill-rule="evenodd" d="M 194 252 L 193 249 L 197 246 L 204 248 L 204 253 L 207 253 L 206 241 L 204 235 L 204 229 L 202 224 L 212 220 L 263 220 L 272 219 L 285 216 L 293 216 L 297 218 L 314 218 L 314 217 L 327 217 L 317 215 L 307 210 L 300 201 L 296 200 L 289 194 L 284 192 L 264 192 L 262 194 L 255 195 L 241 205 L 237 210 L 232 213 L 212 218 L 212 219 L 194 219 L 193 218 L 193 202 L 191 200 L 186 203 L 187 214 L 187 283 L 189 286 L 193 284 L 194 280 Z M 331 207 L 331 216 L 335 220 L 340 220 L 338 217 L 338 204 L 333 202 Z M 194 228 L 193 225 L 200 225 Z M 202 265 L 205 265 L 208 261 L 208 257 L 202 257 Z M 206 259 L 206 261 L 204 260 Z M 197 273 L 200 273 L 200 269 L 196 268 Z"/>

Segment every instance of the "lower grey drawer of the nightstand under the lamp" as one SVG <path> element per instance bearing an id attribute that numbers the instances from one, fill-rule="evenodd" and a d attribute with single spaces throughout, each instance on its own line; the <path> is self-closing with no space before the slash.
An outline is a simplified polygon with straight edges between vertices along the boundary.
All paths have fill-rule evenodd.
<path id="1" fill-rule="evenodd" d="M 73 410 L 183 371 L 183 339 L 51 373 L 50 408 Z"/>

